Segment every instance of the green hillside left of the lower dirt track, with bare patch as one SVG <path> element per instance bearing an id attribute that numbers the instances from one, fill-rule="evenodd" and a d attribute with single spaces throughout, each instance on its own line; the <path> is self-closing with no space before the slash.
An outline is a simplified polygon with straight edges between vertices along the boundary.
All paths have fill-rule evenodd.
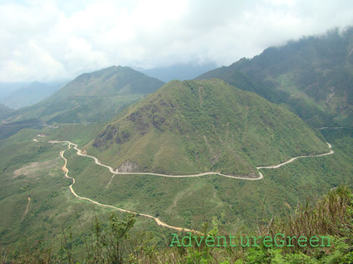
<path id="1" fill-rule="evenodd" d="M 102 216 L 104 221 L 107 219 L 103 216 L 112 210 L 79 201 L 70 193 L 70 181 L 63 177 L 60 169 L 63 160 L 59 153 L 66 146 L 45 142 L 50 136 L 60 139 L 65 133 L 65 138 L 86 144 L 100 127 L 76 124 L 42 130 L 23 129 L 0 141 L 1 247 L 16 248 L 19 253 L 39 240 L 41 246 L 53 248 L 51 253 L 56 254 L 60 250 L 63 230 L 70 227 L 76 236 L 80 234 L 80 225 L 88 229 L 95 215 Z M 38 133 L 48 136 L 39 138 L 36 137 Z M 42 142 L 34 142 L 35 137 Z M 28 197 L 31 198 L 30 204 Z M 137 228 L 141 224 L 154 229 L 152 221 L 142 219 Z M 74 244 L 83 246 L 80 241 Z"/>

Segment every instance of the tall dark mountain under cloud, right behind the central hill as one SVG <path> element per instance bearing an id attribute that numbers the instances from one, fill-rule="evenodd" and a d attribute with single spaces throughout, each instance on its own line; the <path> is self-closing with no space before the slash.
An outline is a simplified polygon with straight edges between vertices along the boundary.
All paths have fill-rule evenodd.
<path id="1" fill-rule="evenodd" d="M 285 104 L 313 126 L 353 126 L 352 27 L 270 47 L 197 79 L 219 78 L 233 84 L 239 75 L 263 87 L 239 85 L 240 89 Z"/>

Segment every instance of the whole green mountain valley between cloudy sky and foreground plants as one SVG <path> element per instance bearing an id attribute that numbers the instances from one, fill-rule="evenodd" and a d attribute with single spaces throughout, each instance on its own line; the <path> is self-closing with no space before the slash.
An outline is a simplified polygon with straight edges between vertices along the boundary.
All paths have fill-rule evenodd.
<path id="1" fill-rule="evenodd" d="M 270 229 L 353 187 L 351 40 L 330 31 L 167 83 L 112 66 L 1 105 L 0 246 L 80 255 L 114 213 L 165 249 L 176 232 Z"/>

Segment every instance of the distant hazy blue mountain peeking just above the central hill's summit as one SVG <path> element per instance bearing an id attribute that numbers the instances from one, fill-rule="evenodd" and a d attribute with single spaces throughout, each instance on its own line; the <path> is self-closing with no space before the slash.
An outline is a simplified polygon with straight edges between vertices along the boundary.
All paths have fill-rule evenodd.
<path id="1" fill-rule="evenodd" d="M 213 63 L 204 65 L 185 63 L 152 69 L 137 68 L 137 70 L 143 72 L 145 75 L 162 79 L 163 82 L 169 82 L 172 81 L 172 79 L 179 79 L 181 81 L 184 81 L 185 79 L 194 79 L 196 76 L 201 75 L 201 73 L 213 70 L 216 67 L 217 66 Z"/>

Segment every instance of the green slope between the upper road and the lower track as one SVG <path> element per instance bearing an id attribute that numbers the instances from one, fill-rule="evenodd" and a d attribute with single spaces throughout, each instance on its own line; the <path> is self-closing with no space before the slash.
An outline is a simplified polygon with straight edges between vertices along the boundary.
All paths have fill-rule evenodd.
<path id="1" fill-rule="evenodd" d="M 315 199 L 340 184 L 352 186 L 352 130 L 325 131 L 334 155 L 302 158 L 275 170 L 262 170 L 258 181 L 218 175 L 166 178 L 115 175 L 90 158 L 65 151 L 68 170 L 80 196 L 102 204 L 159 216 L 174 226 L 201 230 L 204 219 L 222 219 L 226 231 L 254 226 L 258 217 L 292 210 L 297 202 Z"/>

